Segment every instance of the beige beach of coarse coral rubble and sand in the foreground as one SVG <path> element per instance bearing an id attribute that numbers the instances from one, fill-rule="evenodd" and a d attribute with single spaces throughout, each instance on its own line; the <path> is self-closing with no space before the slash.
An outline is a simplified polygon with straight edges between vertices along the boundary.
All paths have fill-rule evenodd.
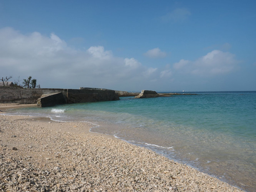
<path id="1" fill-rule="evenodd" d="M 21 106 L 0 104 L 1 111 L 13 107 Z M 90 133 L 90 127 L 85 122 L 0 115 L 0 189 L 242 191 L 151 150 Z"/>

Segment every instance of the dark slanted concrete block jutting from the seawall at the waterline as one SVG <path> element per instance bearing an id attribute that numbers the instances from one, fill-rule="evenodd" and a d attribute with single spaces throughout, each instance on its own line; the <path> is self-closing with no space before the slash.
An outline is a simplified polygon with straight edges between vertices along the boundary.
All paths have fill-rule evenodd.
<path id="1" fill-rule="evenodd" d="M 65 103 L 66 103 L 66 100 L 61 92 L 47 94 L 46 96 L 37 99 L 37 107 L 39 108 L 51 107 L 59 104 L 65 104 Z"/>

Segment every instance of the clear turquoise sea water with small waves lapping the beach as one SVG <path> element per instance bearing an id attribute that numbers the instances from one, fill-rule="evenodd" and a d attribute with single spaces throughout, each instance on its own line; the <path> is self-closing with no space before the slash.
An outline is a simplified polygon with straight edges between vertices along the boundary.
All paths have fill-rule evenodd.
<path id="1" fill-rule="evenodd" d="M 10 114 L 92 122 L 111 134 L 187 163 L 231 184 L 256 190 L 256 91 L 23 108 Z"/>

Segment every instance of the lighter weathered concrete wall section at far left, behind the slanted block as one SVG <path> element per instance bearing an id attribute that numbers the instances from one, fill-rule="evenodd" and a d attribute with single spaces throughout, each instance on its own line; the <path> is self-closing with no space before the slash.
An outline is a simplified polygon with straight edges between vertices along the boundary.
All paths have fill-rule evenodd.
<path id="1" fill-rule="evenodd" d="M 0 87 L 0 103 L 35 104 L 42 94 L 63 93 L 66 100 L 66 89 L 23 89 Z"/>

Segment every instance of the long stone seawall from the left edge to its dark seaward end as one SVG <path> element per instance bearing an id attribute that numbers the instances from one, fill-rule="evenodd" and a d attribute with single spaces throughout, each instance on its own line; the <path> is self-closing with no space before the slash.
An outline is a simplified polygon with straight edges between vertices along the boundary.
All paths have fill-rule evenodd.
<path id="1" fill-rule="evenodd" d="M 35 104 L 43 94 L 62 93 L 65 103 L 115 101 L 118 94 L 109 89 L 23 89 L 0 87 L 0 103 Z"/>

